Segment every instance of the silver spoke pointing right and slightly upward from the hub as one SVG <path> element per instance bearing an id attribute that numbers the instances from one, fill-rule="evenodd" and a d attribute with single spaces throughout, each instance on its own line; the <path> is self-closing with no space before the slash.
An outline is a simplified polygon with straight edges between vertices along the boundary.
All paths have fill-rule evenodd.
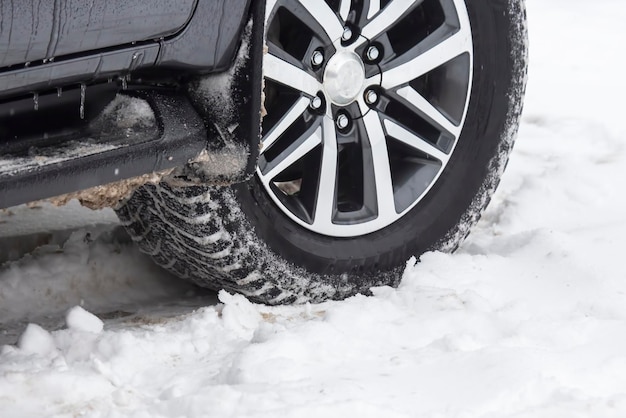
<path id="1" fill-rule="evenodd" d="M 469 53 L 471 45 L 471 33 L 461 29 L 407 63 L 385 71 L 383 73 L 382 86 L 386 89 L 392 89 L 407 84 L 453 58 Z"/>

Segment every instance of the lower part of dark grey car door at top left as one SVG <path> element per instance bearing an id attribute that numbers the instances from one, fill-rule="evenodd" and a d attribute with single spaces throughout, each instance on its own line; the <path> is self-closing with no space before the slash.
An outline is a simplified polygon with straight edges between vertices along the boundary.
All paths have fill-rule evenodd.
<path id="1" fill-rule="evenodd" d="M 197 0 L 0 0 L 0 68 L 181 31 Z"/>

